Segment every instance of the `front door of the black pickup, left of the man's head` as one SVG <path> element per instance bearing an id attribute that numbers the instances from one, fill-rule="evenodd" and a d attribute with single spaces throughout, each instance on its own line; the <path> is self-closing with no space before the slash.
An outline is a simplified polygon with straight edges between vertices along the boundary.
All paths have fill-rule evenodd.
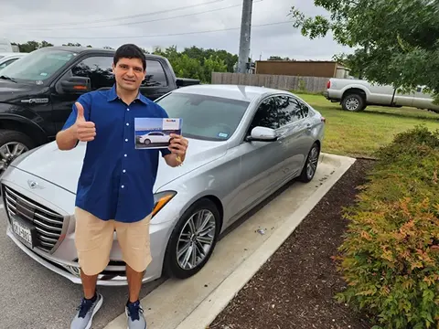
<path id="1" fill-rule="evenodd" d="M 80 59 L 62 75 L 51 94 L 53 104 L 52 120 L 55 122 L 57 131 L 62 129 L 64 122 L 70 115 L 73 103 L 80 97 L 80 93 L 69 93 L 60 88 L 60 81 L 69 79 L 72 76 L 90 78 L 91 90 L 112 88 L 114 83 L 112 56 L 91 54 Z"/>

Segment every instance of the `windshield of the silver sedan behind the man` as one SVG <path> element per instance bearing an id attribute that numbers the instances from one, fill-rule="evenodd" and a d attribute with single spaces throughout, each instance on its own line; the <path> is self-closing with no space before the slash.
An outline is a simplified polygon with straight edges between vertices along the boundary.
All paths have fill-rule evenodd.
<path id="1" fill-rule="evenodd" d="M 248 101 L 172 92 L 157 101 L 169 118 L 182 119 L 182 134 L 206 141 L 226 141 L 235 132 Z"/>

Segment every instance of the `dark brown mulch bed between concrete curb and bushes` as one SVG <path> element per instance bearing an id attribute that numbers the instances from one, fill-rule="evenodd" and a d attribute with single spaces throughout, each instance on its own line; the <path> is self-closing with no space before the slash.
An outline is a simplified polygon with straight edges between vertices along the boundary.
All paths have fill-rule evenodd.
<path id="1" fill-rule="evenodd" d="M 347 226 L 341 210 L 355 202 L 372 165 L 357 160 L 349 168 L 209 329 L 371 327 L 365 315 L 335 301 L 345 282 L 331 256 Z"/>

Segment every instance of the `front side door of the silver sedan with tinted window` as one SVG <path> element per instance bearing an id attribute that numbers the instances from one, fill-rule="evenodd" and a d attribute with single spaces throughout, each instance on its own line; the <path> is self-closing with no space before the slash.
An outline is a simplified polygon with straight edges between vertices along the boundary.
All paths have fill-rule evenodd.
<path id="1" fill-rule="evenodd" d="M 256 126 L 275 129 L 282 133 L 288 115 L 279 106 L 277 96 L 264 99 L 255 112 L 247 135 Z M 237 147 L 240 154 L 241 185 L 235 190 L 230 203 L 230 214 L 240 216 L 248 207 L 252 207 L 263 197 L 280 186 L 285 175 L 284 140 L 275 142 L 246 142 Z"/>

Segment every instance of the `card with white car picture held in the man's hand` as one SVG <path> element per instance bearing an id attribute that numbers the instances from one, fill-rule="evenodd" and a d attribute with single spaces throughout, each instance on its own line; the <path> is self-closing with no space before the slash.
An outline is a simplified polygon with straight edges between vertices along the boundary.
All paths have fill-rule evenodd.
<path id="1" fill-rule="evenodd" d="M 171 133 L 181 134 L 182 119 L 134 118 L 136 149 L 167 148 Z"/>

